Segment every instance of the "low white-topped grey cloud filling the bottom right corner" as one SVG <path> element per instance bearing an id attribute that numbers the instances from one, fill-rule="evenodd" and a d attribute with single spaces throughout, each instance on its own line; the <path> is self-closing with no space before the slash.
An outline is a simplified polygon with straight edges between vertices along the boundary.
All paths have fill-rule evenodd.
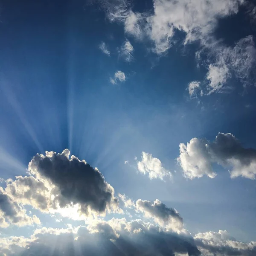
<path id="1" fill-rule="evenodd" d="M 195 242 L 206 256 L 253 256 L 256 255 L 256 242 L 236 241 L 227 231 L 198 233 Z"/>

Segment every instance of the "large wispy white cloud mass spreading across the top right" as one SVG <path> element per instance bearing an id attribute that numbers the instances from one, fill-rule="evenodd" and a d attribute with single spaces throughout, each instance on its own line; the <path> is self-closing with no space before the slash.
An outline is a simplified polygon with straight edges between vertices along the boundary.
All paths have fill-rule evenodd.
<path id="1" fill-rule="evenodd" d="M 111 22 L 120 22 L 128 35 L 138 40 L 149 39 L 152 50 L 162 55 L 174 44 L 176 31 L 185 33 L 184 45 L 199 42 L 195 58 L 206 68 L 205 86 L 199 95 L 223 92 L 233 76 L 246 86 L 255 81 L 256 48 L 253 35 L 226 46 L 214 37 L 218 19 L 236 15 L 246 6 L 248 17 L 254 6 L 244 0 L 153 0 L 152 12 L 133 12 L 131 2 L 125 0 L 99 1 Z"/>

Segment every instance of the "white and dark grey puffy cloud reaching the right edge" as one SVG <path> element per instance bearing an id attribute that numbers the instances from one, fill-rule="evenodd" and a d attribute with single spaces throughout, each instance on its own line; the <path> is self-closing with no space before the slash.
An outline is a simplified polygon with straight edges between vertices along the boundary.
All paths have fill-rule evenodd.
<path id="1" fill-rule="evenodd" d="M 246 177 L 255 179 L 256 150 L 244 148 L 239 140 L 230 133 L 218 133 L 213 142 L 193 138 L 187 145 L 180 144 L 178 162 L 185 177 L 215 177 L 212 163 L 218 163 L 224 168 L 231 168 L 230 177 Z"/>

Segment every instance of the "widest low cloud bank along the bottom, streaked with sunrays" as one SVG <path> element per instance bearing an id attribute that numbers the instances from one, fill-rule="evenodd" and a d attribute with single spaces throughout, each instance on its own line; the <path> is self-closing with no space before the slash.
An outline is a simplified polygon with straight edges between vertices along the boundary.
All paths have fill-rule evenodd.
<path id="1" fill-rule="evenodd" d="M 0 253 L 5 256 L 200 254 L 190 235 L 165 232 L 142 220 L 126 221 L 125 218 L 95 221 L 87 227 L 37 229 L 29 238 L 1 238 L 0 245 Z"/>

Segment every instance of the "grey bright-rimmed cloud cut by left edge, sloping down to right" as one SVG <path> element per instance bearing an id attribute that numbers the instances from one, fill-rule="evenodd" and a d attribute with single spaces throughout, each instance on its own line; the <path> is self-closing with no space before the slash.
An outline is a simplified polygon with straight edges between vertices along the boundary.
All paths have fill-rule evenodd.
<path id="1" fill-rule="evenodd" d="M 9 227 L 10 224 L 19 227 L 40 223 L 37 216 L 31 218 L 26 214 L 20 204 L 13 201 L 12 198 L 0 187 L 0 227 Z"/>

